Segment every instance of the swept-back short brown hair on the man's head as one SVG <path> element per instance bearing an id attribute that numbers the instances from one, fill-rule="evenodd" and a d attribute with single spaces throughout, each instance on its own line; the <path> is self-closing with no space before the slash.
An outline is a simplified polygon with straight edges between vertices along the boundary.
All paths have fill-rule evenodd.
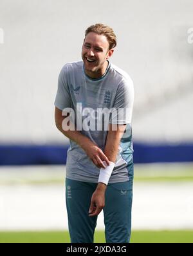
<path id="1" fill-rule="evenodd" d="M 94 32 L 98 35 L 104 35 L 107 37 L 107 41 L 109 42 L 109 50 L 116 47 L 116 35 L 112 28 L 102 23 L 96 23 L 95 25 L 91 25 L 85 31 L 85 37 L 89 32 Z"/>

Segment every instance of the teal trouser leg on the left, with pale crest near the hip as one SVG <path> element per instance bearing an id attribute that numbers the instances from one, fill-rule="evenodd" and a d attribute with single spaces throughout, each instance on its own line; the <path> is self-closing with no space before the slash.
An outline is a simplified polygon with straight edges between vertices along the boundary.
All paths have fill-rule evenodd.
<path id="1" fill-rule="evenodd" d="M 97 217 L 88 211 L 96 184 L 66 178 L 66 208 L 71 242 L 93 242 Z"/>

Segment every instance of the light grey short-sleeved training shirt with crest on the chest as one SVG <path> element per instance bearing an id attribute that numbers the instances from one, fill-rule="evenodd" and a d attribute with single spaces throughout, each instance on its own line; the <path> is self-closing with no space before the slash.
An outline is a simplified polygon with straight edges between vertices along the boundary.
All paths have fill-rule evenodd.
<path id="1" fill-rule="evenodd" d="M 61 111 L 73 109 L 77 129 L 100 149 L 104 150 L 106 145 L 108 123 L 127 124 L 109 183 L 133 179 L 133 98 L 133 81 L 127 73 L 111 63 L 106 74 L 98 79 L 86 75 L 83 61 L 67 63 L 60 71 L 55 107 Z M 98 182 L 99 171 L 84 150 L 70 140 L 66 177 L 83 182 Z"/>

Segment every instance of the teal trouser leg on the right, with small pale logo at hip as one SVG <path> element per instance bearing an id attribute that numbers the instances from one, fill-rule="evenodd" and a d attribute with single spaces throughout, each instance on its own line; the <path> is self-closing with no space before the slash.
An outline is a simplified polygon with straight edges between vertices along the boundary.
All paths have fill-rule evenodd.
<path id="1" fill-rule="evenodd" d="M 104 208 L 106 242 L 129 242 L 132 199 L 133 180 L 107 186 Z"/>

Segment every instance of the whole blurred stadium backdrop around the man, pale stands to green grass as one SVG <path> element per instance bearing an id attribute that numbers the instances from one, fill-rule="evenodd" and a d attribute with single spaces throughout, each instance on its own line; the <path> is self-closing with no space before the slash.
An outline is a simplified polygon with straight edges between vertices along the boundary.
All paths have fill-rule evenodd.
<path id="1" fill-rule="evenodd" d="M 114 28 L 111 62 L 134 81 L 132 241 L 193 242 L 192 11 L 191 0 L 0 0 L 0 242 L 69 242 L 53 101 L 97 22 Z M 96 242 L 101 230 L 102 214 Z"/>

